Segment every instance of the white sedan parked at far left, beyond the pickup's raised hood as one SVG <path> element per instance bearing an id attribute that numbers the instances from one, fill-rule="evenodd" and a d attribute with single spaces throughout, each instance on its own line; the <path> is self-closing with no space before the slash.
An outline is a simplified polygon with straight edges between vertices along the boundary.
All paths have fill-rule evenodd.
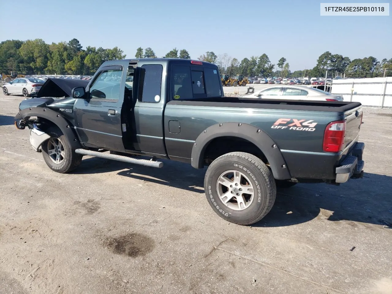
<path id="1" fill-rule="evenodd" d="M 3 85 L 4 95 L 22 94 L 25 97 L 37 94 L 45 81 L 36 78 L 16 78 Z"/>

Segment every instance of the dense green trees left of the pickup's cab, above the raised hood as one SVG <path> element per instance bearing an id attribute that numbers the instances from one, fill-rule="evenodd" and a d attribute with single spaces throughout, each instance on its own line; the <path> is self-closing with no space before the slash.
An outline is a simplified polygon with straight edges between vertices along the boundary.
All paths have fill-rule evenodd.
<path id="1" fill-rule="evenodd" d="M 118 47 L 83 49 L 76 38 L 52 44 L 42 39 L 7 40 L 0 43 L 0 73 L 91 75 L 103 62 L 125 56 Z"/>

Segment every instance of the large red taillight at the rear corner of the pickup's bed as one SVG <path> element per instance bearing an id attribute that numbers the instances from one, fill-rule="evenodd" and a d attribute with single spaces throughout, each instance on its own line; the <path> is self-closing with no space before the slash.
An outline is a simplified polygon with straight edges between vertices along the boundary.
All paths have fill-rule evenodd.
<path id="1" fill-rule="evenodd" d="M 344 147 L 346 121 L 331 122 L 324 132 L 323 150 L 325 152 L 340 152 Z"/>

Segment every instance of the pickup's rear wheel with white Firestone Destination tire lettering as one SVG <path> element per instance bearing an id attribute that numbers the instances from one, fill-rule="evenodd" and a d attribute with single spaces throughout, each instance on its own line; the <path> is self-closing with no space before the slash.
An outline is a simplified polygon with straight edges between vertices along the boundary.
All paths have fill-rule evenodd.
<path id="1" fill-rule="evenodd" d="M 261 220 L 276 197 L 269 167 L 245 152 L 227 153 L 214 160 L 205 174 L 204 189 L 212 209 L 221 218 L 239 225 Z"/>

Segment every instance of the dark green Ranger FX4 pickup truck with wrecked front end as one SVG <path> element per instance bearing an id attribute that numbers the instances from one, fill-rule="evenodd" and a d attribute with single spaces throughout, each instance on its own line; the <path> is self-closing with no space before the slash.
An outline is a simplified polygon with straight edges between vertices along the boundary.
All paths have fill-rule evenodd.
<path id="1" fill-rule="evenodd" d="M 270 211 L 277 186 L 362 178 L 361 122 L 358 102 L 225 97 L 216 65 L 181 59 L 105 62 L 85 88 L 24 100 L 15 116 L 56 172 L 83 155 L 208 166 L 211 207 L 241 225 Z"/>

